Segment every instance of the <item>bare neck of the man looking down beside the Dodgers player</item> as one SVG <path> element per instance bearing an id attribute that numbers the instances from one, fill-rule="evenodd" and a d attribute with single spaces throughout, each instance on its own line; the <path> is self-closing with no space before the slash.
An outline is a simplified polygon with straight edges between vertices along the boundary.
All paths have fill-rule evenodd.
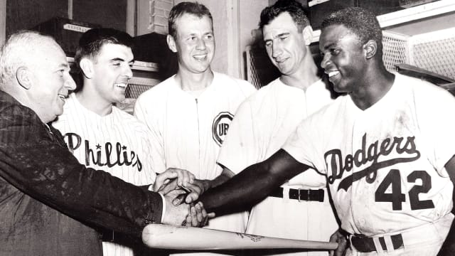
<path id="1" fill-rule="evenodd" d="M 313 58 L 305 58 L 301 63 L 301 68 L 291 75 L 281 75 L 281 80 L 285 85 L 300 88 L 306 91 L 310 85 L 319 80 L 318 68 Z"/>

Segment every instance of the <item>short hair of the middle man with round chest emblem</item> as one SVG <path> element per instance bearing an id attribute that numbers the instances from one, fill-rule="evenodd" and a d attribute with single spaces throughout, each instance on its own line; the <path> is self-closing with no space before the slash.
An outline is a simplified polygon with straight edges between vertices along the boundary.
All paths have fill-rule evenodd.
<path id="1" fill-rule="evenodd" d="M 183 14 L 193 14 L 202 18 L 203 16 L 208 16 L 210 18 L 210 22 L 212 23 L 213 28 L 213 18 L 212 14 L 207 7 L 203 4 L 199 4 L 198 2 L 181 2 L 176 6 L 173 6 L 171 12 L 169 13 L 169 21 L 168 21 L 168 29 L 169 35 L 173 38 L 177 37 L 177 26 L 176 20 L 177 18 L 183 16 Z"/>

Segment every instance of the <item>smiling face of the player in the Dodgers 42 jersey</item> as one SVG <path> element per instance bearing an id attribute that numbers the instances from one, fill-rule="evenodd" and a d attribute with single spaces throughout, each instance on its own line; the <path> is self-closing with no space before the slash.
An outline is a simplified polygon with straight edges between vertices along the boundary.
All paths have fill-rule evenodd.
<path id="1" fill-rule="evenodd" d="M 319 38 L 323 57 L 321 67 L 337 92 L 353 92 L 366 74 L 365 50 L 358 38 L 344 25 L 323 29 Z"/>

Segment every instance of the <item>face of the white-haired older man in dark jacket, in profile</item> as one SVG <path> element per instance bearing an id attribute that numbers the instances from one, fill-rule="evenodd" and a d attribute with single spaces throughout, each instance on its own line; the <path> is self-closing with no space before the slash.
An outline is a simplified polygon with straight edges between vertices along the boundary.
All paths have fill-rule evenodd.
<path id="1" fill-rule="evenodd" d="M 31 67 L 33 84 L 29 97 L 33 110 L 47 123 L 63 113 L 68 90 L 75 89 L 75 82 L 66 55 L 56 43 L 46 42 L 42 53 L 36 56 L 39 59 Z"/>

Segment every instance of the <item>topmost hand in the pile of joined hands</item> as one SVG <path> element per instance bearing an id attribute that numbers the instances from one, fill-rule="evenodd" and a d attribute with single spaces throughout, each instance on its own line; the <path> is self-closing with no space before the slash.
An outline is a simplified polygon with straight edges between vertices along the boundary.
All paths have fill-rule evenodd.
<path id="1" fill-rule="evenodd" d="M 154 183 L 154 191 L 159 192 L 166 187 L 171 181 L 175 181 L 173 184 L 172 189 L 168 188 L 168 191 L 172 191 L 176 189 L 177 186 L 188 186 L 189 184 L 193 183 L 195 180 L 194 174 L 191 172 L 183 170 L 183 169 L 176 169 L 176 168 L 169 168 L 164 173 L 159 174 L 156 176 L 156 180 Z M 167 191 L 167 192 L 168 192 Z M 164 195 L 166 193 L 163 193 Z"/>

